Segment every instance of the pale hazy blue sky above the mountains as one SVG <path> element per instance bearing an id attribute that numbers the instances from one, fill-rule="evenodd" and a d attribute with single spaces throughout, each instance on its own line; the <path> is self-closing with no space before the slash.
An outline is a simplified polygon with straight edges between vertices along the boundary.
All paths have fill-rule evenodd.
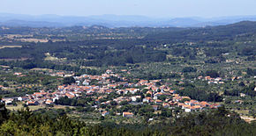
<path id="1" fill-rule="evenodd" d="M 0 0 L 0 12 L 57 15 L 222 17 L 256 15 L 256 0 Z"/>

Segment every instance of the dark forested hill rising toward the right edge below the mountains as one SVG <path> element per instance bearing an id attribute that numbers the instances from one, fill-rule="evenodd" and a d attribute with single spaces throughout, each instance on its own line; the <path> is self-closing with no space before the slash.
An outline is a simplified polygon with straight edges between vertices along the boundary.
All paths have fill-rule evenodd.
<path id="1" fill-rule="evenodd" d="M 256 33 L 256 22 L 243 21 L 232 25 L 207 26 L 205 28 L 191 28 L 179 32 L 162 32 L 147 35 L 148 41 L 199 41 L 235 39 L 237 36 L 252 36 Z"/>

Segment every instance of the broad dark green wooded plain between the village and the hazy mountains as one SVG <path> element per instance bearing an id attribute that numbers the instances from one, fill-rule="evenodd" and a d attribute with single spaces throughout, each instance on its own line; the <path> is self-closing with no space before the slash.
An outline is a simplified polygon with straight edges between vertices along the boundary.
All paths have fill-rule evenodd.
<path id="1" fill-rule="evenodd" d="M 5 60 L 23 58 L 40 62 L 45 60 L 46 54 L 50 54 L 51 57 L 66 59 L 65 63 L 79 61 L 79 66 L 120 66 L 127 63 L 167 61 L 168 55 L 195 59 L 197 53 L 188 48 L 191 46 L 194 49 L 203 47 L 205 54 L 210 50 L 215 51 L 215 56 L 233 52 L 236 55 L 252 55 L 253 58 L 256 54 L 256 22 L 249 21 L 190 29 L 75 26 L 58 29 L 2 27 L 2 30 L 0 59 Z M 36 42 L 37 40 L 43 42 Z M 41 65 L 34 64 L 28 68 L 38 66 Z"/>

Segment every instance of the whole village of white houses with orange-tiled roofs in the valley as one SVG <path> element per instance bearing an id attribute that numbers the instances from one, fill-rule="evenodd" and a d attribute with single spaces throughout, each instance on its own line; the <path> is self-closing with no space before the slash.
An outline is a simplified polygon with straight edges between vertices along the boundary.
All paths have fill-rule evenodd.
<path id="1" fill-rule="evenodd" d="M 112 76 L 119 78 L 122 82 L 110 80 L 110 77 Z M 203 77 L 199 77 L 199 79 L 201 78 Z M 222 81 L 221 78 L 204 78 L 207 81 L 214 80 L 219 83 Z M 108 105 L 111 101 L 115 101 L 119 105 L 124 101 L 130 104 L 151 104 L 155 111 L 157 111 L 160 106 L 164 108 L 181 107 L 186 112 L 199 111 L 205 108 L 217 108 L 219 106 L 218 104 L 209 104 L 207 102 L 192 100 L 190 97 L 181 97 L 177 94 L 176 90 L 169 88 L 167 85 L 157 86 L 156 82 L 160 82 L 160 80 L 139 80 L 139 82 L 130 83 L 127 82 L 124 77 L 114 74 L 111 70 L 107 70 L 106 73 L 102 75 L 74 76 L 74 79 L 76 80 L 76 83 L 72 85 L 60 85 L 54 92 L 41 90 L 40 92 L 34 92 L 32 95 L 26 95 L 24 97 L 4 98 L 3 101 L 5 104 L 12 104 L 12 101 L 17 99 L 18 101 L 25 102 L 27 105 L 45 105 L 54 104 L 60 97 L 73 98 L 86 96 L 94 98 L 94 107 L 96 108 L 101 104 Z M 96 83 L 93 85 L 91 84 L 92 81 L 96 81 Z M 118 88 L 119 86 L 122 86 L 123 88 Z M 143 89 L 141 89 L 142 86 Z M 141 92 L 144 94 L 141 95 Z M 106 102 L 100 101 L 104 96 L 107 96 L 110 93 L 116 93 L 121 97 Z M 109 111 L 102 111 L 102 116 L 108 114 Z M 131 118 L 132 116 L 132 112 L 123 112 L 123 117 L 125 118 Z"/>

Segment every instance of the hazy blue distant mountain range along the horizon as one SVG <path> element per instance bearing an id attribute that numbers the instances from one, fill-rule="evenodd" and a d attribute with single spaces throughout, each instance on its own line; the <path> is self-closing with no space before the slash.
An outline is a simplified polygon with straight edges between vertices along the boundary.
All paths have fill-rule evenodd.
<path id="1" fill-rule="evenodd" d="M 222 18 L 148 18 L 145 16 L 58 16 L 21 15 L 0 13 L 0 25 L 30 27 L 65 27 L 73 25 L 104 25 L 107 27 L 204 27 L 229 25 L 240 21 L 256 21 L 256 16 L 235 16 Z"/>

